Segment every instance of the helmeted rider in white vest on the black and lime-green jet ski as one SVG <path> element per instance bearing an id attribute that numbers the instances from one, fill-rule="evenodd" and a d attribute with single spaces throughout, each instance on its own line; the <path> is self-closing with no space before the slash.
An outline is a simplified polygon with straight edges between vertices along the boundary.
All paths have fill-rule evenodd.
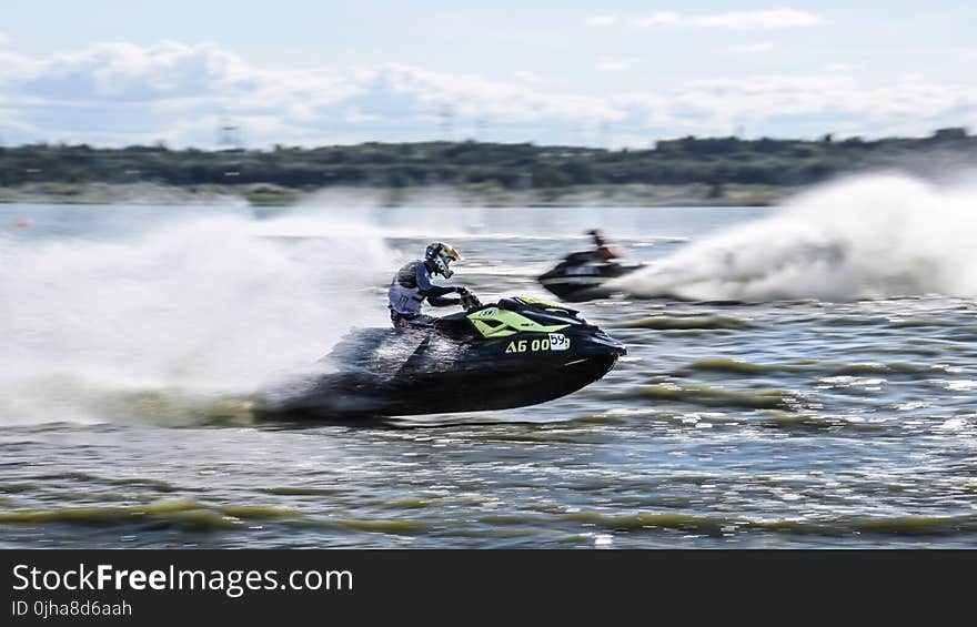
<path id="1" fill-rule="evenodd" d="M 432 274 L 451 279 L 452 261 L 461 261 L 462 255 L 449 244 L 433 242 L 424 251 L 424 260 L 412 261 L 401 267 L 390 282 L 390 321 L 395 328 L 407 326 L 432 326 L 440 318 L 421 313 L 421 303 L 427 299 L 435 307 L 459 305 L 461 299 L 445 299 L 445 294 L 465 296 L 469 290 L 460 285 L 434 285 Z"/>

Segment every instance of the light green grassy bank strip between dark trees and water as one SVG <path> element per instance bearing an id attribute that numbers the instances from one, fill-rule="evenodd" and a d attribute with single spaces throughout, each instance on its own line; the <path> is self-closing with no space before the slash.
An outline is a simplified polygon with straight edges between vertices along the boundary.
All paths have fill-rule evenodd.
<path id="1" fill-rule="evenodd" d="M 377 206 L 450 204 L 454 206 L 768 206 L 798 191 L 773 185 L 576 185 L 501 191 L 464 186 L 332 186 L 302 190 L 270 184 L 157 185 L 151 183 L 32 183 L 0 186 L 0 203 L 19 204 L 226 204 L 301 206 L 343 199 Z M 717 193 L 718 192 L 718 193 Z"/>

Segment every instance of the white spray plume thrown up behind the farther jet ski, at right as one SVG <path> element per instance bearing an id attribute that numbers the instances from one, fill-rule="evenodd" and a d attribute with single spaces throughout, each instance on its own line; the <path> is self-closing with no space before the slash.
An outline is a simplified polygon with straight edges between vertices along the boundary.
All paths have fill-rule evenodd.
<path id="1" fill-rule="evenodd" d="M 693 242 L 621 282 L 635 296 L 850 301 L 977 295 L 977 189 L 874 174 Z"/>

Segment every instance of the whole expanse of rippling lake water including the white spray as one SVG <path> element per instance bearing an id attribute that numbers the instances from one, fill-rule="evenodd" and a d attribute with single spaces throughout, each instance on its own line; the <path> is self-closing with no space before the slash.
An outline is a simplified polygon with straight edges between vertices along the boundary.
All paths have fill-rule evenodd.
<path id="1" fill-rule="evenodd" d="M 975 547 L 970 214 L 943 204 L 945 245 L 917 242 L 945 193 L 920 191 L 877 264 L 858 210 L 885 199 L 859 185 L 780 209 L 2 205 L 0 546 Z M 483 300 L 545 295 L 592 226 L 652 264 L 631 292 L 687 299 L 582 305 L 628 346 L 604 380 L 379 427 L 251 419 L 249 393 L 385 324 L 427 241 Z M 769 235 L 800 231 L 840 233 L 843 263 Z"/>

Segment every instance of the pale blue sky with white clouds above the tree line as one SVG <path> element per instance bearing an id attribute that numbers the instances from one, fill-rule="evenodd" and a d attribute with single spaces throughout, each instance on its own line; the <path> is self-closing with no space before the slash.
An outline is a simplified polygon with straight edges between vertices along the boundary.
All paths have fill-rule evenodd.
<path id="1" fill-rule="evenodd" d="M 651 148 L 977 127 L 969 1 L 4 4 L 4 145 Z"/>

